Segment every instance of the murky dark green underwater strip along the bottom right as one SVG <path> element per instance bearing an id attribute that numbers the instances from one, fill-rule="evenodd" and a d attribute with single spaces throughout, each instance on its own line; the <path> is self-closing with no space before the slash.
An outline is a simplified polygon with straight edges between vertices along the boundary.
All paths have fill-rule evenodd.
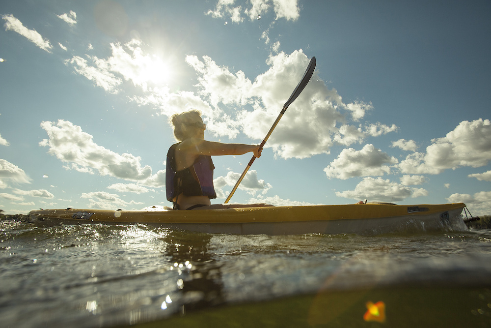
<path id="1" fill-rule="evenodd" d="M 384 323 L 365 322 L 367 301 Z M 489 288 L 406 287 L 318 293 L 207 308 L 132 327 L 491 327 Z"/>

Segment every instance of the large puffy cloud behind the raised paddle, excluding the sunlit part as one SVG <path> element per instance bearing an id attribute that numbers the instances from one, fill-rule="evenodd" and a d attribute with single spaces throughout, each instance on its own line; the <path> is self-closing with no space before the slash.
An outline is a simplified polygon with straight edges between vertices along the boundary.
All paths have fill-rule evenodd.
<path id="1" fill-rule="evenodd" d="M 187 62 L 198 73 L 199 94 L 213 107 L 207 121 L 208 130 L 217 136 L 242 132 L 249 138 L 263 138 L 284 102 L 297 86 L 309 59 L 300 51 L 290 55 L 281 52 L 267 60 L 270 68 L 252 82 L 242 71 L 232 73 L 211 58 L 188 56 Z M 247 107 L 225 114 L 225 107 Z M 372 106 L 362 102 L 345 104 L 335 89 L 327 89 L 314 72 L 308 86 L 288 108 L 270 136 L 266 147 L 273 148 L 283 158 L 305 158 L 329 153 L 334 142 L 350 145 L 361 142 L 370 134 L 380 135 L 397 129 L 395 125 L 368 124 L 353 127 L 348 120 L 362 118 Z M 206 116 L 206 113 L 203 113 Z M 220 123 L 218 123 L 220 122 Z M 226 131 L 226 132 L 223 132 Z M 331 136 L 333 139 L 331 139 Z"/>

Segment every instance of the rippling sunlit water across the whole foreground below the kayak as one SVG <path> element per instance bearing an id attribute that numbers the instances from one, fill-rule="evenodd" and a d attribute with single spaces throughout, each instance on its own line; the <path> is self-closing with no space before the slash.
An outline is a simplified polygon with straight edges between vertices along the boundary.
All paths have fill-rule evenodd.
<path id="1" fill-rule="evenodd" d="M 0 224 L 2 327 L 491 327 L 490 230 Z M 363 320 L 368 301 L 385 303 L 385 323 Z"/>

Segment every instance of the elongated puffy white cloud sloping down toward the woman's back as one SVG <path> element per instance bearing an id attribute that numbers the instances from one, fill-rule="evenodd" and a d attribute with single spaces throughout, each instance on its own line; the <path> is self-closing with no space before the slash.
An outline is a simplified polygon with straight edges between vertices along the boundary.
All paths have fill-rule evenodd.
<path id="1" fill-rule="evenodd" d="M 148 165 L 142 167 L 140 157 L 118 154 L 97 145 L 80 126 L 60 119 L 56 123 L 43 121 L 41 127 L 46 130 L 49 139 L 44 139 L 39 145 L 49 147 L 48 153 L 69 163 L 71 169 L 87 173 L 97 170 L 101 176 L 109 175 L 141 184 L 148 182 L 152 186 L 165 185 L 164 171 L 152 176 L 152 168 Z"/>

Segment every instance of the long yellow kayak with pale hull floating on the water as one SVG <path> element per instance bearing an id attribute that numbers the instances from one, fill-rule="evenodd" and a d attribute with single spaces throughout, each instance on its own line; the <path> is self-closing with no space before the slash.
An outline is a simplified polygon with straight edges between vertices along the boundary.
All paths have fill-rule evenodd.
<path id="1" fill-rule="evenodd" d="M 240 209 L 141 210 L 40 209 L 29 220 L 45 226 L 146 224 L 210 234 L 381 234 L 465 230 L 463 203 L 439 205 L 352 204 Z"/>

